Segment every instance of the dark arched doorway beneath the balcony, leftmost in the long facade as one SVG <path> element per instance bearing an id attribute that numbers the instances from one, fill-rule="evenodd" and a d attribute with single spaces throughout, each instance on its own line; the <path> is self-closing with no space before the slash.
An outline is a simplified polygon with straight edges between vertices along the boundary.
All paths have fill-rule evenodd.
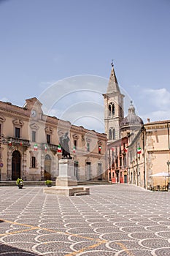
<path id="1" fill-rule="evenodd" d="M 21 178 L 20 176 L 20 152 L 15 150 L 12 153 L 12 181 Z"/>

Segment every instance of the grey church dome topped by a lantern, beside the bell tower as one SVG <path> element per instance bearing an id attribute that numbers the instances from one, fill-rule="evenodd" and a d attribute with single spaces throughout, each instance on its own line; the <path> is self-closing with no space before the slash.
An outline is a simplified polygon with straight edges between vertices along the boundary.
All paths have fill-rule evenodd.
<path id="1" fill-rule="evenodd" d="M 120 123 L 120 129 L 139 129 L 139 127 L 142 127 L 144 122 L 142 121 L 142 118 L 139 116 L 136 116 L 134 105 L 132 104 L 128 108 L 128 116 L 125 116 L 123 118 L 123 121 Z"/>

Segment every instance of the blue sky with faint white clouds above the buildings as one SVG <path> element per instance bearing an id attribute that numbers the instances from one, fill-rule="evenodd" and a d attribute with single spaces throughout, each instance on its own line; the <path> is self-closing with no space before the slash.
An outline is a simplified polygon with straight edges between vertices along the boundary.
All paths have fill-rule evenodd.
<path id="1" fill-rule="evenodd" d="M 0 100 L 37 97 L 52 116 L 104 132 L 113 59 L 125 114 L 132 99 L 144 122 L 170 119 L 169 13 L 169 0 L 1 0 Z"/>

